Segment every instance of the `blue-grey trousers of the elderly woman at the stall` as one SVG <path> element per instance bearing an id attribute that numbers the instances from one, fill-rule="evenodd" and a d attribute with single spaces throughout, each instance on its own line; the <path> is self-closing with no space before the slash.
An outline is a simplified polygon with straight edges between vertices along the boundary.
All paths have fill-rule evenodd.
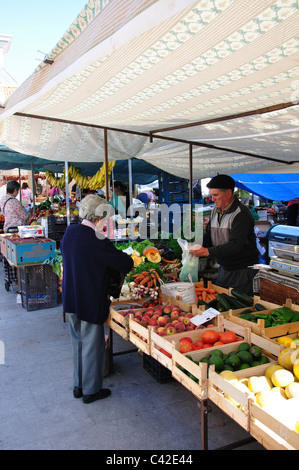
<path id="1" fill-rule="evenodd" d="M 82 388 L 84 395 L 102 389 L 105 368 L 104 325 L 78 320 L 68 313 L 73 351 L 73 385 Z"/>

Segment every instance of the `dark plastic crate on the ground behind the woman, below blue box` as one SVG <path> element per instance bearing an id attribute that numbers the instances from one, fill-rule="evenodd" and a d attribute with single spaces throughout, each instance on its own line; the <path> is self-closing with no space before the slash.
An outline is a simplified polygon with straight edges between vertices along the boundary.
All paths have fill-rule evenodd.
<path id="1" fill-rule="evenodd" d="M 40 310 L 57 306 L 57 276 L 52 266 L 22 266 L 19 269 L 22 307 Z"/>

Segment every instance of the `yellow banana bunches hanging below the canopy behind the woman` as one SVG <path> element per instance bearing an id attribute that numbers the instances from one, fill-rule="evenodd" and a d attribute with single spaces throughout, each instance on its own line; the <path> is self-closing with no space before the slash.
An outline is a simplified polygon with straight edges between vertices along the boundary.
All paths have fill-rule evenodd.
<path id="1" fill-rule="evenodd" d="M 112 168 L 114 167 L 115 162 L 108 162 L 108 175 L 110 176 Z M 91 178 L 82 175 L 79 168 L 76 168 L 74 165 L 70 165 L 68 169 L 69 181 L 75 180 L 77 186 L 81 189 L 90 189 L 95 191 L 96 189 L 103 188 L 105 186 L 105 163 L 101 168 L 96 172 Z M 47 170 L 46 178 L 49 181 L 51 186 L 54 186 L 59 189 L 65 188 L 65 172 L 61 178 L 56 178 L 54 173 Z"/>

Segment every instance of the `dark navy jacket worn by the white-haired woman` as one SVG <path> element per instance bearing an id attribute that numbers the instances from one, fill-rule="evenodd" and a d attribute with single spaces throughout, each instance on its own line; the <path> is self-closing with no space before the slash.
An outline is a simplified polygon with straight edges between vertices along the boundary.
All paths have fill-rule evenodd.
<path id="1" fill-rule="evenodd" d="M 62 239 L 62 298 L 67 313 L 79 320 L 101 324 L 108 317 L 109 284 L 113 271 L 127 274 L 133 267 L 132 258 L 117 250 L 107 239 L 100 239 L 86 225 L 70 225 Z"/>

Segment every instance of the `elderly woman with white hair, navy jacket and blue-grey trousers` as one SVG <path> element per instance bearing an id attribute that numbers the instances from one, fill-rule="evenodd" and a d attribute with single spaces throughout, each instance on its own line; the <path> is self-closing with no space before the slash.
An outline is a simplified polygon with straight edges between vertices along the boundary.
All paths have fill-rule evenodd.
<path id="1" fill-rule="evenodd" d="M 81 202 L 81 224 L 70 225 L 61 242 L 62 297 L 70 321 L 73 351 L 73 395 L 84 403 L 106 398 L 104 323 L 109 313 L 109 285 L 113 271 L 127 274 L 130 256 L 117 250 L 100 232 L 111 206 L 90 194 Z"/>

